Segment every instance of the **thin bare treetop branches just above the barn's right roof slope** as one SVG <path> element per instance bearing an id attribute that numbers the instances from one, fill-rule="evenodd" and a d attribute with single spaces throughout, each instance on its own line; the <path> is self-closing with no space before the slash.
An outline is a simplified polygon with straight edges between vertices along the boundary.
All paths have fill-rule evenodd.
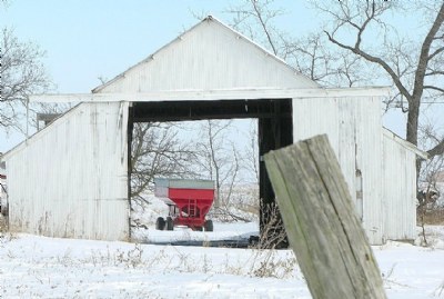
<path id="1" fill-rule="evenodd" d="M 274 0 L 244 0 L 226 12 L 234 16 L 233 28 L 323 86 L 352 87 L 371 80 L 372 72 L 360 59 L 329 47 L 322 32 L 296 38 L 278 29 L 274 23 L 285 11 L 275 7 Z"/>

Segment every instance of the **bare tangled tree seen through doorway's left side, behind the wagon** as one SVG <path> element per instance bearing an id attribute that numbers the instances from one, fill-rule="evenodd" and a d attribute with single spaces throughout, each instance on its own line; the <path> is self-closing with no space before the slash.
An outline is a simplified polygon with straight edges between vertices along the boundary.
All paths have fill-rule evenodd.
<path id="1" fill-rule="evenodd" d="M 178 139 L 174 123 L 134 123 L 131 144 L 131 198 L 143 202 L 154 177 L 194 176 L 194 152 Z"/>

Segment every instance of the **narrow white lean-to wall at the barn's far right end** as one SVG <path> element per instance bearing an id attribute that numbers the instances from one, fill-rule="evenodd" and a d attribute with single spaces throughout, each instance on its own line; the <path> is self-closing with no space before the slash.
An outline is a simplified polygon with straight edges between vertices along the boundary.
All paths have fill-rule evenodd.
<path id="1" fill-rule="evenodd" d="M 384 239 L 413 240 L 416 236 L 416 155 L 383 136 Z"/>

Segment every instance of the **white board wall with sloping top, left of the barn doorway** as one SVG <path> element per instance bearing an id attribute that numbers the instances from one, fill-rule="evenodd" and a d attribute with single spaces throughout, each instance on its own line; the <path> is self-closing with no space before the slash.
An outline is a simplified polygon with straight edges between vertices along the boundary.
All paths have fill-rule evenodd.
<path id="1" fill-rule="evenodd" d="M 81 103 L 4 157 L 11 231 L 125 240 L 128 103 Z"/>

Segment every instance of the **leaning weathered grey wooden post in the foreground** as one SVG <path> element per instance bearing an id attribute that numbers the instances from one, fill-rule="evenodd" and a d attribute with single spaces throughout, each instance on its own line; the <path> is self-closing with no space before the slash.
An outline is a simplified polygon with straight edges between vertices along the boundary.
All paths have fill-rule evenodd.
<path id="1" fill-rule="evenodd" d="M 313 298 L 386 298 L 326 136 L 270 151 L 265 166 Z"/>

